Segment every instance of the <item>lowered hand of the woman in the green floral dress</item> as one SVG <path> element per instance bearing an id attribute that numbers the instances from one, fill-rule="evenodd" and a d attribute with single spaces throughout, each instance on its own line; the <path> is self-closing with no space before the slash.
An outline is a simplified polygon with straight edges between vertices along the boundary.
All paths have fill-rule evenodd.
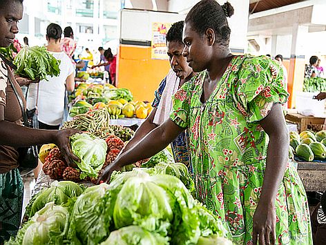
<path id="1" fill-rule="evenodd" d="M 276 211 L 274 205 L 259 204 L 253 215 L 253 245 L 270 245 L 276 242 Z"/>

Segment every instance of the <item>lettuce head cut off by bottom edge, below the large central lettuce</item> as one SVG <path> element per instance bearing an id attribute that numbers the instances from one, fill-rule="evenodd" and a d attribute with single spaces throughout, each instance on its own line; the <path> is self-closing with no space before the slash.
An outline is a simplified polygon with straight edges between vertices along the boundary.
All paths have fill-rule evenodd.
<path id="1" fill-rule="evenodd" d="M 113 231 L 101 245 L 167 245 L 169 237 L 150 233 L 140 226 L 126 226 Z"/>

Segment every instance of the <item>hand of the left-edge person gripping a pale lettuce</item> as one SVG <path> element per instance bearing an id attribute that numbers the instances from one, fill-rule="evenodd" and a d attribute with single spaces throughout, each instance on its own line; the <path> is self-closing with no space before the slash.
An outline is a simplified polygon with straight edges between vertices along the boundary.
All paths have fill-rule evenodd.
<path id="1" fill-rule="evenodd" d="M 66 160 L 68 166 L 73 168 L 77 167 L 74 161 L 80 161 L 80 159 L 73 154 L 70 148 L 69 137 L 71 135 L 75 135 L 75 133 L 81 133 L 81 131 L 69 128 L 64 130 L 57 130 L 55 135 L 55 145 L 59 147 L 61 155 Z"/>

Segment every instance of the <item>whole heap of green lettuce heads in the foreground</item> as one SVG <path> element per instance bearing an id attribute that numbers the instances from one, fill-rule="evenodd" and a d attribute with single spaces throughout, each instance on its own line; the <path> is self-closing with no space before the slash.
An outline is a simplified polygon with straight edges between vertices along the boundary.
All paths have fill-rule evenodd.
<path id="1" fill-rule="evenodd" d="M 180 179 L 153 168 L 113 173 L 64 204 L 46 201 L 7 244 L 232 244 Z"/>

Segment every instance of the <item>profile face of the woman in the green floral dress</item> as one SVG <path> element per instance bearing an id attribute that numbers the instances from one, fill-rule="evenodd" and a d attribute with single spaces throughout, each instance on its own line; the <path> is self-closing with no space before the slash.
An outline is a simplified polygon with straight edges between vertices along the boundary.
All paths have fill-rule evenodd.
<path id="1" fill-rule="evenodd" d="M 186 57 L 189 66 L 194 72 L 207 69 L 209 63 L 210 50 L 206 35 L 199 35 L 190 23 L 184 23 L 182 39 L 185 44 L 182 55 Z"/>

